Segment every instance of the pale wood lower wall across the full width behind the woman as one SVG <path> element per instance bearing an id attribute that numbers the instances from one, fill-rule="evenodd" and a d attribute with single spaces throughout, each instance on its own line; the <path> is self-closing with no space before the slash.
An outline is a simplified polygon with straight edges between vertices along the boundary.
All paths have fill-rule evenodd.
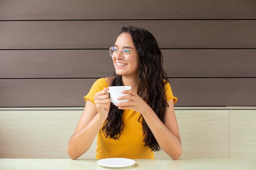
<path id="1" fill-rule="evenodd" d="M 0 158 L 69 158 L 83 107 L 0 108 Z M 256 166 L 256 107 L 175 107 L 186 158 L 242 158 Z M 95 159 L 97 137 L 79 159 Z M 170 159 L 163 151 L 156 159 Z"/>

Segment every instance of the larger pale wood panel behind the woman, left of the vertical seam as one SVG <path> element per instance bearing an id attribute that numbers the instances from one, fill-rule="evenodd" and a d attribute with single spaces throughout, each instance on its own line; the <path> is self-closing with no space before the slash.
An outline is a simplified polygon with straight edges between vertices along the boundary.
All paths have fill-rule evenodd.
<path id="1" fill-rule="evenodd" d="M 69 158 L 68 141 L 83 110 L 0 110 L 0 158 Z M 176 110 L 182 158 L 229 157 L 229 110 Z M 221 140 L 220 140 L 221 138 Z M 79 159 L 95 159 L 97 138 Z M 170 159 L 164 151 L 156 159 Z"/>

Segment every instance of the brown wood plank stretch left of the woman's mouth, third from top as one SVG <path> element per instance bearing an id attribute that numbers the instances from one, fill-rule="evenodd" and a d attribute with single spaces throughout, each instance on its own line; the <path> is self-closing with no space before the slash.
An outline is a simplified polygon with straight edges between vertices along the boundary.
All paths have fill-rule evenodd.
<path id="1" fill-rule="evenodd" d="M 109 50 L 2 50 L 0 78 L 111 77 Z"/>

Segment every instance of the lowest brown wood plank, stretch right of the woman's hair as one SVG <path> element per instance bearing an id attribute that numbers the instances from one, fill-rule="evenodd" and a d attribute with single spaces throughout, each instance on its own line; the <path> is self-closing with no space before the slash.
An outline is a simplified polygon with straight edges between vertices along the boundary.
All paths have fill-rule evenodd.
<path id="1" fill-rule="evenodd" d="M 180 78 L 171 85 L 177 106 L 256 106 L 256 78 Z"/>

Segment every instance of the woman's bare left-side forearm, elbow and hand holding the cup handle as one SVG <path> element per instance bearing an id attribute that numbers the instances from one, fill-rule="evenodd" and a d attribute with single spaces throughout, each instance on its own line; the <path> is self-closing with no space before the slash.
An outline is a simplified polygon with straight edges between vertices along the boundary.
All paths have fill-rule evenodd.
<path id="1" fill-rule="evenodd" d="M 68 154 L 72 159 L 76 159 L 87 152 L 108 117 L 110 99 L 106 90 L 108 88 L 95 94 L 93 98 L 95 105 L 90 100 L 85 103 L 83 115 L 68 145 Z"/>

